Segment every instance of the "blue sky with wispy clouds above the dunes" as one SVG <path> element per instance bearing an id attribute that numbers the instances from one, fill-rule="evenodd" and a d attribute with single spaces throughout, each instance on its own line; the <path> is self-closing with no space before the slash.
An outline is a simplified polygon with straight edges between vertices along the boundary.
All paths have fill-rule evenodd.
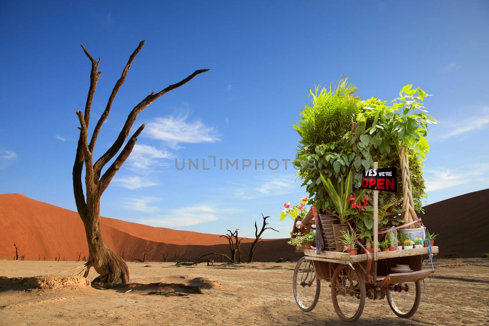
<path id="1" fill-rule="evenodd" d="M 78 44 L 101 58 L 93 128 L 141 40 L 94 156 L 149 93 L 211 70 L 139 114 L 134 126 L 148 126 L 102 196 L 103 216 L 251 237 L 263 213 L 281 231 L 266 237 L 288 237 L 282 205 L 306 193 L 280 160 L 294 157 L 291 126 L 309 88 L 340 75 L 363 98 L 391 100 L 406 84 L 433 94 L 426 108 L 441 124 L 425 161 L 429 203 L 489 188 L 488 17 L 487 1 L 1 1 L 0 193 L 75 210 L 75 109 L 90 69 Z M 218 167 L 238 159 L 239 170 L 203 171 L 208 155 Z M 175 168 L 189 158 L 199 171 Z M 242 170 L 243 159 L 252 166 Z M 279 169 L 255 171 L 255 159 Z"/>

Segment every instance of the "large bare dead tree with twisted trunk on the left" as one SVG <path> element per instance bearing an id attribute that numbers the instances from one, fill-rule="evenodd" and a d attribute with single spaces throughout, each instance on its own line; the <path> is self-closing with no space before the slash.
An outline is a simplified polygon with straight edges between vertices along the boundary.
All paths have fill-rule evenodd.
<path id="1" fill-rule="evenodd" d="M 104 191 L 109 187 L 112 178 L 120 167 L 124 164 L 126 159 L 129 157 L 133 151 L 134 144 L 137 137 L 144 129 L 145 124 L 141 125 L 132 136 L 129 137 L 129 133 L 136 120 L 137 115 L 143 109 L 146 109 L 150 104 L 155 102 L 158 98 L 165 95 L 169 91 L 178 88 L 192 78 L 199 75 L 200 73 L 206 72 L 209 69 L 196 70 L 193 74 L 178 82 L 177 84 L 170 85 L 161 91 L 155 93 L 152 92 L 146 96 L 139 104 L 137 104 L 132 111 L 129 113 L 127 120 L 122 127 L 117 139 L 111 145 L 111 147 L 94 163 L 93 152 L 95 148 L 95 143 L 97 141 L 98 134 L 105 120 L 107 119 L 112 102 L 114 101 L 117 92 L 119 91 L 122 84 L 126 80 L 126 75 L 131 67 L 134 58 L 137 53 L 141 50 L 144 45 L 144 41 L 141 41 L 137 48 L 134 50 L 133 54 L 129 57 L 127 65 L 122 71 L 122 75 L 115 83 L 112 89 L 111 95 L 107 102 L 107 106 L 100 116 L 95 128 L 93 130 L 92 136 L 89 139 L 88 130 L 90 123 L 90 111 L 93 100 L 93 95 L 95 93 L 95 88 L 97 86 L 98 79 L 100 77 L 101 71 L 98 70 L 98 65 L 100 59 L 96 61 L 89 54 L 87 49 L 83 46 L 83 51 L 89 58 L 91 62 L 90 71 L 90 86 L 88 91 L 87 102 L 85 104 L 85 112 L 76 111 L 78 119 L 80 121 L 80 137 L 78 139 L 78 146 L 76 149 L 75 162 L 73 165 L 73 192 L 75 197 L 76 208 L 80 218 L 85 226 L 85 234 L 87 236 L 87 242 L 89 246 L 89 258 L 85 267 L 80 270 L 77 275 L 83 275 L 87 277 L 89 274 L 89 269 L 91 267 L 95 268 L 95 271 L 100 274 L 94 281 L 95 282 L 109 282 L 109 283 L 129 283 L 129 270 L 126 262 L 115 254 L 111 249 L 109 249 L 102 238 L 102 231 L 100 229 L 100 197 Z M 126 142 L 126 139 L 129 140 Z M 126 143 L 124 145 L 124 143 Z M 124 146 L 124 147 L 123 147 Z M 104 174 L 102 171 L 104 166 L 108 164 L 113 157 L 121 150 L 115 160 L 111 163 L 108 169 L 105 170 Z M 85 165 L 85 189 L 86 196 L 83 191 L 82 175 L 83 167 Z"/>

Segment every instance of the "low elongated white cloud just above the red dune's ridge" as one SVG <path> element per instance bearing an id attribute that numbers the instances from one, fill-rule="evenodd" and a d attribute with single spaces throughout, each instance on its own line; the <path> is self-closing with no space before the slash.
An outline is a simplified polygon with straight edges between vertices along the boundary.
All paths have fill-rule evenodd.
<path id="1" fill-rule="evenodd" d="M 172 209 L 169 214 L 141 218 L 138 222 L 156 227 L 172 228 L 212 222 L 217 219 L 219 217 L 216 208 L 210 205 L 197 205 Z"/>

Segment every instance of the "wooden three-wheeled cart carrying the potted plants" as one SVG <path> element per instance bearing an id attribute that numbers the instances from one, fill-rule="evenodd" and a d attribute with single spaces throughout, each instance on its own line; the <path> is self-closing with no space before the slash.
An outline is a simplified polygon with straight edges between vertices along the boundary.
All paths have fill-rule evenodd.
<path id="1" fill-rule="evenodd" d="M 438 247 L 423 247 L 375 252 L 369 260 L 367 254 L 325 251 L 317 255 L 306 249 L 294 270 L 295 301 L 303 311 L 311 311 L 319 299 L 321 281 L 329 281 L 334 310 L 343 321 L 355 322 L 367 298 L 386 298 L 396 315 L 409 318 L 420 304 L 421 281 L 434 272 L 422 264 L 430 250 L 438 253 Z M 407 265 L 410 271 L 393 272 L 396 265 Z"/>

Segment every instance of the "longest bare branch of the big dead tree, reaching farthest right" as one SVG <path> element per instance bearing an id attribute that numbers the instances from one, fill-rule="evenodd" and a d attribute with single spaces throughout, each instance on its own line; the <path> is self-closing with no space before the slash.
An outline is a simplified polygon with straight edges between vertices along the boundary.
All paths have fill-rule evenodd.
<path id="1" fill-rule="evenodd" d="M 129 131 L 131 130 L 131 127 L 133 126 L 134 121 L 136 120 L 137 114 L 141 112 L 143 109 L 146 109 L 151 103 L 155 102 L 158 98 L 161 96 L 165 95 L 169 91 L 178 88 L 190 80 L 194 78 L 195 76 L 209 71 L 209 69 L 200 69 L 196 70 L 193 74 L 188 76 L 187 78 L 179 81 L 177 84 L 170 85 L 161 91 L 151 93 L 150 95 L 146 96 L 144 100 L 142 100 L 138 105 L 134 107 L 134 109 L 129 113 L 129 116 L 127 117 L 126 123 L 124 124 L 124 127 L 122 128 L 121 132 L 119 133 L 119 136 L 115 140 L 115 142 L 112 144 L 111 148 L 105 152 L 98 160 L 95 162 L 95 165 L 93 166 L 94 171 L 96 174 L 100 174 L 100 171 L 104 167 L 104 165 L 109 162 L 112 157 L 115 156 L 117 152 L 119 152 L 120 148 L 122 147 L 122 144 L 124 144 L 124 141 L 126 140 L 127 136 L 129 135 Z"/>

